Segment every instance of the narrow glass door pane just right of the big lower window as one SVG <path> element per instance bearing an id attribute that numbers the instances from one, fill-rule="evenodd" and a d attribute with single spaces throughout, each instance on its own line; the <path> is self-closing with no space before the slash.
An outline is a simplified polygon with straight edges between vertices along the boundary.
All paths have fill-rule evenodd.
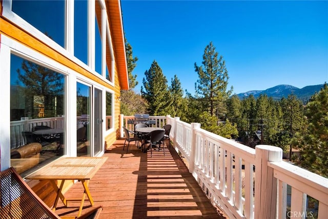
<path id="1" fill-rule="evenodd" d="M 77 156 L 90 156 L 91 87 L 77 83 Z"/>

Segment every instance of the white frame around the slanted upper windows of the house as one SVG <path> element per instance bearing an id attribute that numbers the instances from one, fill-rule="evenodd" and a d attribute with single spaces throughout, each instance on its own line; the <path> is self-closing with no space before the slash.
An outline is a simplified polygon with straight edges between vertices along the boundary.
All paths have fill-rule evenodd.
<path id="1" fill-rule="evenodd" d="M 63 0 L 64 1 L 64 0 Z M 31 34 L 33 37 L 37 38 L 38 40 L 44 42 L 45 44 L 49 45 L 49 47 L 53 48 L 60 54 L 63 54 L 65 57 L 68 57 L 72 61 L 76 62 L 79 66 L 87 69 L 95 76 L 99 77 L 100 79 L 103 79 L 106 81 L 109 85 L 115 87 L 115 78 L 114 78 L 114 53 L 113 53 L 113 45 L 112 45 L 112 39 L 109 31 L 109 23 L 108 23 L 108 17 L 107 17 L 107 11 L 106 11 L 106 4 L 104 0 L 96 0 L 99 2 L 99 5 L 101 6 L 101 19 L 102 19 L 102 30 L 103 33 L 101 35 L 102 40 L 102 47 L 103 51 L 101 54 L 102 57 L 102 72 L 101 74 L 97 73 L 95 71 L 95 1 L 89 1 L 88 0 L 88 65 L 85 64 L 83 61 L 78 59 L 76 56 L 74 56 L 74 1 L 65 1 L 66 9 L 65 9 L 65 47 L 61 47 L 59 44 L 57 44 L 55 41 L 53 41 L 51 38 L 49 38 L 47 35 L 33 27 L 30 23 L 25 21 L 22 17 L 14 13 L 12 8 L 12 0 L 3 1 L 3 16 L 9 19 L 12 23 L 17 25 L 19 28 L 22 28 L 24 31 Z M 106 36 L 109 34 L 109 40 L 110 40 L 110 51 L 112 56 L 112 81 L 109 81 L 106 78 Z M 104 43 L 105 42 L 105 43 Z M 105 48 L 105 49 L 104 49 Z M 108 69 L 110 71 L 110 69 Z"/>

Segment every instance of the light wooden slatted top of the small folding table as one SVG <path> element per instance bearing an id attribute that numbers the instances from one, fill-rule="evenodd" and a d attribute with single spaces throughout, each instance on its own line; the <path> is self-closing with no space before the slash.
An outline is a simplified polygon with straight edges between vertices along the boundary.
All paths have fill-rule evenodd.
<path id="1" fill-rule="evenodd" d="M 28 180 L 90 180 L 107 157 L 60 157 L 27 176 Z"/>

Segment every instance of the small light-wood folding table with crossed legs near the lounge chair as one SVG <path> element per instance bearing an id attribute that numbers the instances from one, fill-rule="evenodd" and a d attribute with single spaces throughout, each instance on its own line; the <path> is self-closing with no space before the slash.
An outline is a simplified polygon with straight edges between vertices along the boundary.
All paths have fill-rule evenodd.
<path id="1" fill-rule="evenodd" d="M 60 157 L 25 178 L 28 180 L 49 180 L 51 182 L 53 189 L 57 192 L 53 211 L 56 210 L 59 198 L 66 207 L 68 207 L 68 201 L 81 201 L 77 214 L 77 216 L 80 216 L 86 195 L 91 206 L 94 205 L 88 188 L 89 181 L 106 160 L 107 157 Z M 57 186 L 58 180 L 61 180 L 59 187 Z M 81 200 L 67 200 L 65 198 L 62 190 L 66 180 L 77 180 L 82 183 L 84 193 Z"/>

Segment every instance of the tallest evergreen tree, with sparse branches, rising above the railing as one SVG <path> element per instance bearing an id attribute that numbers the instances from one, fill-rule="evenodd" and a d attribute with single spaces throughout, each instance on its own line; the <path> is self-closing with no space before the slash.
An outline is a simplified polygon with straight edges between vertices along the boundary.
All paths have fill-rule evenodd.
<path id="1" fill-rule="evenodd" d="M 195 84 L 196 96 L 200 98 L 203 110 L 210 112 L 213 116 L 215 113 L 221 117 L 225 113 L 224 103 L 232 92 L 227 91 L 228 86 L 228 70 L 223 57 L 218 57 L 213 43 L 210 42 L 204 49 L 203 66 L 197 66 L 195 63 L 195 71 L 199 79 Z"/>

